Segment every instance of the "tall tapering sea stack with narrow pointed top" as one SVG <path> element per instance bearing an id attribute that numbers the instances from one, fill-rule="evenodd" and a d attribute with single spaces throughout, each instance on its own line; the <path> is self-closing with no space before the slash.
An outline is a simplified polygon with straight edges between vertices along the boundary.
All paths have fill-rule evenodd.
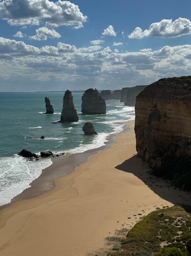
<path id="1" fill-rule="evenodd" d="M 73 96 L 67 90 L 63 97 L 63 109 L 60 122 L 77 122 L 79 120 L 77 111 L 74 109 Z"/>

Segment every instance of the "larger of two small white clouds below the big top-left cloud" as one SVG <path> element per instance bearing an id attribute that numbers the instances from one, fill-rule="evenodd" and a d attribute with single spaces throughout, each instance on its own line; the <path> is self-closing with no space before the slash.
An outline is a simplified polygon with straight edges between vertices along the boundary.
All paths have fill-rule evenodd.
<path id="1" fill-rule="evenodd" d="M 60 38 L 61 35 L 55 31 L 53 28 L 49 29 L 43 26 L 42 28 L 36 29 L 36 35 L 34 36 L 29 36 L 30 39 L 32 40 L 47 40 L 47 38 Z"/>

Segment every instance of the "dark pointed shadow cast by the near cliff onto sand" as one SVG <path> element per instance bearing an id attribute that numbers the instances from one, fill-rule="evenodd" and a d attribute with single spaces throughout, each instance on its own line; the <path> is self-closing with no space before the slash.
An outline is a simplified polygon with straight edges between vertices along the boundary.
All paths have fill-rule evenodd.
<path id="1" fill-rule="evenodd" d="M 147 163 L 142 161 L 141 157 L 138 155 L 134 155 L 133 157 L 125 160 L 115 168 L 123 172 L 134 174 L 154 193 L 159 195 L 159 197 L 173 203 L 174 205 L 191 205 L 190 192 L 171 186 L 171 182 L 169 180 L 151 175 L 152 169 L 149 168 Z"/>

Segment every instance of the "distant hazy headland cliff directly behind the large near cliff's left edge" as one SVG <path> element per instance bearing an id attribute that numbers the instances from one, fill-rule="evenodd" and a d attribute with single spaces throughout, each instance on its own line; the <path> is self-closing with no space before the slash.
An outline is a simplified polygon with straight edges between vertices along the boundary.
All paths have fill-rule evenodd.
<path id="1" fill-rule="evenodd" d="M 126 102 L 125 106 L 134 106 L 136 101 L 136 96 L 146 88 L 146 85 L 138 85 L 131 88 L 128 88 L 126 91 Z"/>

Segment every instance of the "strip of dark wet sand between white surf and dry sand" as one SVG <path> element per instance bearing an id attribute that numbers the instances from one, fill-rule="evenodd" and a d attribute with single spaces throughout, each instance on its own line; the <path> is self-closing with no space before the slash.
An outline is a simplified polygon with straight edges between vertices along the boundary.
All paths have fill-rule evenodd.
<path id="1" fill-rule="evenodd" d="M 88 149 L 80 153 L 60 155 L 59 157 L 51 157 L 52 164 L 49 165 L 49 167 L 42 169 L 42 173 L 40 174 L 40 176 L 29 184 L 31 187 L 26 188 L 25 190 L 23 190 L 23 192 L 13 197 L 10 203 L 1 205 L 0 211 L 17 201 L 38 197 L 51 191 L 55 187 L 55 179 L 68 175 L 69 173 L 74 171 L 76 166 L 86 162 L 89 156 L 97 154 L 100 150 L 105 150 L 110 147 L 110 145 L 114 144 L 114 140 L 119 134 L 125 133 L 129 130 L 128 122 L 131 121 L 122 122 L 124 124 L 124 128 L 122 128 L 122 131 L 114 134 L 108 134 L 107 141 L 104 141 L 105 145 L 102 145 L 101 147 Z M 65 167 L 64 172 L 62 170 L 63 166 Z M 52 172 L 53 168 L 56 169 L 56 172 Z"/>

